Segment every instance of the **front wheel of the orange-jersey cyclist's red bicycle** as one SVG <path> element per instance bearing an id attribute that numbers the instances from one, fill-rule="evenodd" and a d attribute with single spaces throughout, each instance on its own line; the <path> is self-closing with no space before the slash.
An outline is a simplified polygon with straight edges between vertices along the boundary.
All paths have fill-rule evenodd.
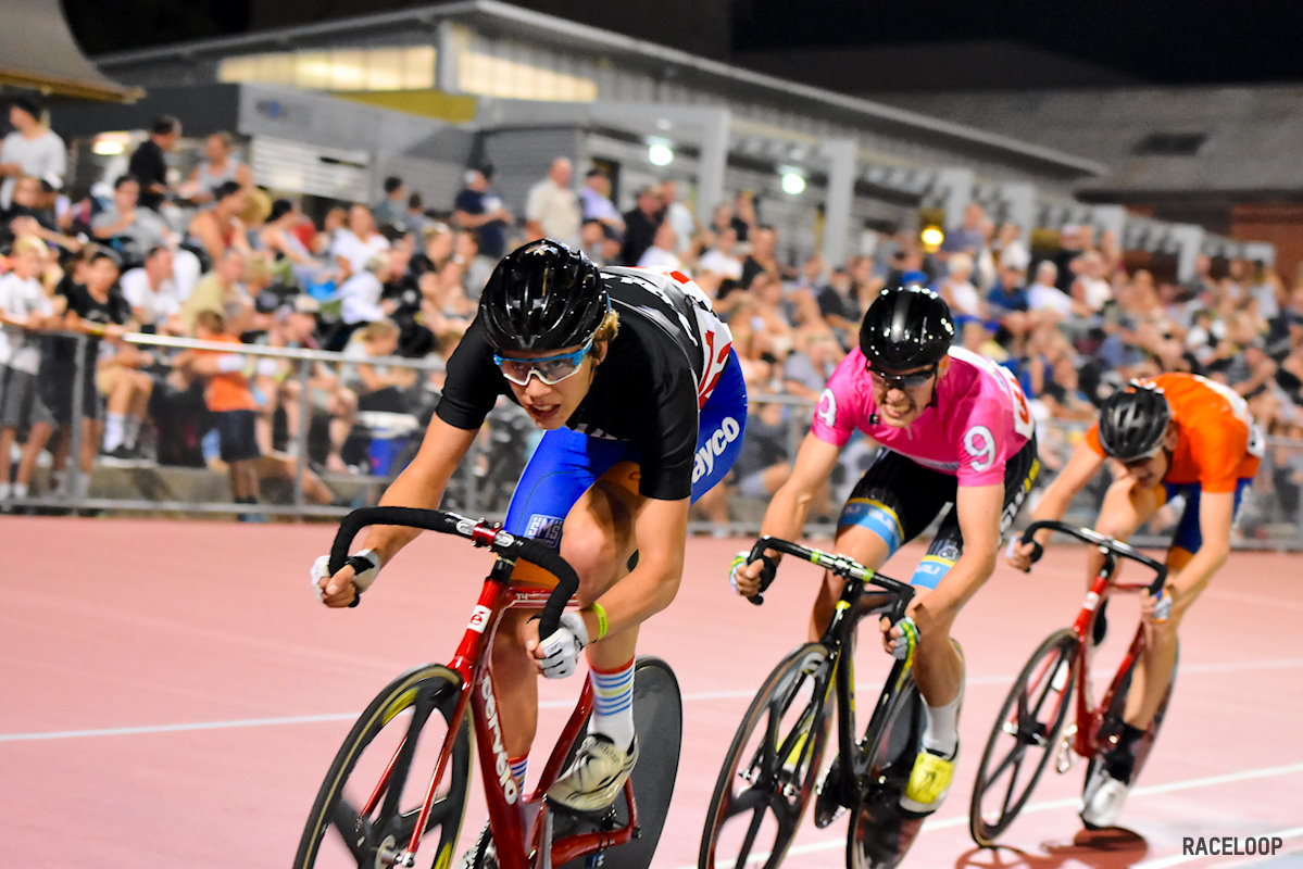
<path id="1" fill-rule="evenodd" d="M 1054 754 L 1072 705 L 1078 644 L 1067 628 L 1046 637 L 999 709 L 968 804 L 968 833 L 984 848 L 1023 810 Z"/>

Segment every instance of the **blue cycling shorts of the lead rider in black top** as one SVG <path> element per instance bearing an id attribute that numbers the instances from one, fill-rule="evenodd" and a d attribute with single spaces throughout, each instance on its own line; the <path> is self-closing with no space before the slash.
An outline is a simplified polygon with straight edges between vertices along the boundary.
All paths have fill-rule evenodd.
<path id="1" fill-rule="evenodd" d="M 741 452 L 747 429 L 747 384 L 736 353 L 697 416 L 697 453 L 692 496 L 710 491 L 724 478 Z M 566 515 L 597 478 L 622 461 L 638 461 L 637 444 L 592 438 L 571 429 L 543 433 L 512 492 L 503 526 L 560 546 Z"/>

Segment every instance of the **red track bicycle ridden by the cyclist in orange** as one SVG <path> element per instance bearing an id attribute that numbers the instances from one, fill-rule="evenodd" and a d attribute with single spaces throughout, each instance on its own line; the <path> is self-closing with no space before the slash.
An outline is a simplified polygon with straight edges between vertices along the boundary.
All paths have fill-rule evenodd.
<path id="1" fill-rule="evenodd" d="M 1151 594 L 1157 595 L 1167 578 L 1167 567 L 1161 562 L 1088 528 L 1058 521 L 1032 522 L 1023 532 L 1023 539 L 1032 539 L 1032 535 L 1042 529 L 1062 532 L 1097 547 L 1104 555 L 1104 563 L 1085 594 L 1085 602 L 1072 627 L 1055 631 L 1032 653 L 1005 698 L 1005 705 L 986 740 L 986 750 L 982 752 L 977 782 L 968 806 L 968 831 L 973 842 L 982 847 L 994 846 L 995 838 L 1018 817 L 1041 773 L 1045 771 L 1052 749 L 1055 750 L 1054 766 L 1058 773 L 1068 770 L 1074 753 L 1089 758 L 1085 774 L 1087 787 L 1089 786 L 1101 754 L 1118 739 L 1127 691 L 1145 648 L 1145 629 L 1141 623 L 1104 700 L 1095 705 L 1089 692 L 1089 638 L 1095 620 L 1113 591 L 1148 589 Z M 1037 545 L 1032 560 L 1038 560 L 1041 554 L 1042 550 Z M 1119 558 L 1149 568 L 1154 572 L 1154 580 L 1149 584 L 1114 582 L 1113 573 Z M 1177 672 L 1173 670 L 1153 724 L 1140 743 L 1132 780 L 1140 775 L 1140 767 L 1158 734 L 1175 680 Z M 1076 723 L 1065 730 L 1063 724 L 1072 706 L 1074 685 Z"/>

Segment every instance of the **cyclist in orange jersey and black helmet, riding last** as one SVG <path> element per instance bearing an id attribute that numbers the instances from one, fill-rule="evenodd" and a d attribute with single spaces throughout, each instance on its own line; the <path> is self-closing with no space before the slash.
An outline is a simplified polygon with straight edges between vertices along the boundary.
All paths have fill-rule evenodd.
<path id="1" fill-rule="evenodd" d="M 1170 499 L 1186 499 L 1184 513 L 1167 550 L 1167 584 L 1154 599 L 1145 594 L 1141 614 L 1148 646 L 1127 696 L 1118 744 L 1087 784 L 1081 819 L 1113 826 L 1131 784 L 1135 752 L 1171 679 L 1181 619 L 1230 554 L 1230 533 L 1244 489 L 1257 473 L 1263 443 L 1248 405 L 1233 390 L 1194 374 L 1160 374 L 1132 380 L 1100 408 L 1063 470 L 1037 504 L 1032 521 L 1062 519 L 1068 503 L 1113 459 L 1109 486 L 1096 530 L 1127 539 Z M 1049 532 L 1037 534 L 1044 545 Z M 1027 571 L 1035 546 L 1015 541 L 1007 560 Z M 1092 554 L 1088 580 L 1102 555 Z M 1096 618 L 1095 642 L 1105 620 Z"/>

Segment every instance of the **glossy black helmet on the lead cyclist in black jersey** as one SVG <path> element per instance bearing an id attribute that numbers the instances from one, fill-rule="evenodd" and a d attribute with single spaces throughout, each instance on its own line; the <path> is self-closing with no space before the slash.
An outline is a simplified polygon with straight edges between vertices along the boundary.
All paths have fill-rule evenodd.
<path id="1" fill-rule="evenodd" d="M 480 297 L 485 335 L 498 352 L 586 344 L 607 309 L 597 266 L 551 238 L 503 257 Z"/>

